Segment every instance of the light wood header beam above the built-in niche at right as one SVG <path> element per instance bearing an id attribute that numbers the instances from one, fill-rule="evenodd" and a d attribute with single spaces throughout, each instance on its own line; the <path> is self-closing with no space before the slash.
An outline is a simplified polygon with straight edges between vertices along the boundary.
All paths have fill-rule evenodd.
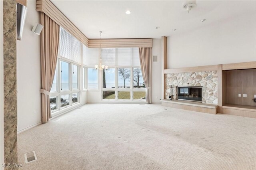
<path id="1" fill-rule="evenodd" d="M 256 61 L 222 64 L 222 70 L 256 69 Z"/>

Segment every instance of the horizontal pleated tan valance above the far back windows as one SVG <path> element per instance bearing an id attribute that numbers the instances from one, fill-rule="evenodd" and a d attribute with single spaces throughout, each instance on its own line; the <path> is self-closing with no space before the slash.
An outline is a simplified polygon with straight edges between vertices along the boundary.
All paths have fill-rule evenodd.
<path id="1" fill-rule="evenodd" d="M 102 39 L 102 48 L 152 47 L 152 38 Z M 89 39 L 89 48 L 100 47 L 100 39 Z"/>

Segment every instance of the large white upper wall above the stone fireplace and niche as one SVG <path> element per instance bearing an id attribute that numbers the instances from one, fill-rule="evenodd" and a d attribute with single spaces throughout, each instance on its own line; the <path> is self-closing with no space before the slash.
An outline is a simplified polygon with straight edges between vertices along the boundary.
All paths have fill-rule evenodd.
<path id="1" fill-rule="evenodd" d="M 255 12 L 200 24 L 206 26 L 168 37 L 169 69 L 256 61 Z"/>

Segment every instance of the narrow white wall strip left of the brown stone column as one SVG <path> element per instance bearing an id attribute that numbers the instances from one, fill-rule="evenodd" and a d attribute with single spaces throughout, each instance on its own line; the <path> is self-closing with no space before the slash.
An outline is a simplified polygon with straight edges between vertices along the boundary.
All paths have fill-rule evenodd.
<path id="1" fill-rule="evenodd" d="M 4 163 L 4 56 L 3 56 L 3 1 L 0 1 L 0 165 Z M 4 168 L 0 166 L 0 169 Z"/>

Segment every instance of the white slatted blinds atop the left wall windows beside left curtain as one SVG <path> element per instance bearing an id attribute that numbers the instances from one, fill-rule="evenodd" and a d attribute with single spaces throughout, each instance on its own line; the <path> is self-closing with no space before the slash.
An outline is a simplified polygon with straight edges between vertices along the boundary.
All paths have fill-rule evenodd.
<path id="1" fill-rule="evenodd" d="M 81 43 L 63 28 L 60 28 L 60 46 L 58 55 L 77 63 L 81 63 Z"/>

